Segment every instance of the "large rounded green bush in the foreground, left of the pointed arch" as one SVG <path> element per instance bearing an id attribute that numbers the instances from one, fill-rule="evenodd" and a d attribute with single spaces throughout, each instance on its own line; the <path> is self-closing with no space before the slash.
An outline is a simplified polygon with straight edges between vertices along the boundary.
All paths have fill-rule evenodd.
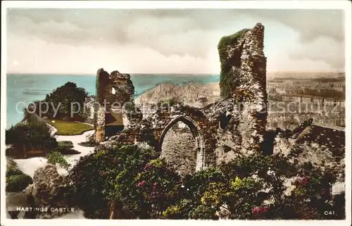
<path id="1" fill-rule="evenodd" d="M 134 145 L 98 146 L 94 153 L 82 157 L 71 171 L 70 178 L 84 216 L 108 218 L 111 201 L 123 209 L 120 212 L 123 218 L 140 215 L 143 198 L 136 187 L 136 177 L 154 158 L 158 158 L 155 151 Z"/>

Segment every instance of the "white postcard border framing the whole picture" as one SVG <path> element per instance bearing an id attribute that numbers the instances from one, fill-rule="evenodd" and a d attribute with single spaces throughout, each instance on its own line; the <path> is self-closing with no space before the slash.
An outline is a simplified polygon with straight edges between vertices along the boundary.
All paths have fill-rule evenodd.
<path id="1" fill-rule="evenodd" d="M 345 11 L 346 220 L 11 220 L 6 218 L 6 10 L 8 8 L 314 8 Z M 298 18 L 299 19 L 299 18 Z M 351 2 L 350 1 L 1 1 L 1 225 L 351 225 Z"/>

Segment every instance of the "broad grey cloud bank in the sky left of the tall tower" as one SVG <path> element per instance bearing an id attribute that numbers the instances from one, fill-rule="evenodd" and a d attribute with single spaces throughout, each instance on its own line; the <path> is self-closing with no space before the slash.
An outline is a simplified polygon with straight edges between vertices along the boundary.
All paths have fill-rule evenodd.
<path id="1" fill-rule="evenodd" d="M 205 58 L 208 46 L 216 46 L 218 42 L 214 44 L 213 37 L 218 40 L 222 36 L 216 30 L 223 29 L 224 23 L 233 21 L 234 13 L 225 12 L 16 9 L 8 11 L 8 32 L 75 46 L 96 45 L 103 38 L 104 42 L 99 42 L 99 45 L 135 44 L 154 49 L 165 56 L 188 54 Z"/>

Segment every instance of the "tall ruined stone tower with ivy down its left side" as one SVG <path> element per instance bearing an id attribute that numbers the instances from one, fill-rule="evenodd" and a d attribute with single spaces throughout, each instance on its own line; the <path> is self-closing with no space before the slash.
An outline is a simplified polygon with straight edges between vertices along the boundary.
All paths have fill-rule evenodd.
<path id="1" fill-rule="evenodd" d="M 221 63 L 220 95 L 238 106 L 237 131 L 241 149 L 260 151 L 267 120 L 266 58 L 264 26 L 256 24 L 227 37 L 218 44 Z"/>

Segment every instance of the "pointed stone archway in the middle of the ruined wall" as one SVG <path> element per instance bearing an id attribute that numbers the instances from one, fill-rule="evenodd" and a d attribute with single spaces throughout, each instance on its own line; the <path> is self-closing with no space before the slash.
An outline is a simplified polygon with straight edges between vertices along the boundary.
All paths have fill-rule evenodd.
<path id="1" fill-rule="evenodd" d="M 175 127 L 175 125 L 180 122 L 184 123 L 191 131 L 191 135 L 194 138 L 194 148 L 190 149 L 189 145 L 184 145 L 184 149 L 180 149 L 180 146 L 182 147 L 182 143 L 186 141 L 183 139 L 184 137 L 179 134 L 180 137 L 175 137 L 175 139 L 173 139 L 172 142 L 175 142 L 174 144 L 168 144 L 167 146 L 164 146 L 163 149 L 163 143 L 166 134 L 172 130 L 172 127 Z M 163 132 L 161 132 L 159 144 L 161 147 L 161 156 L 166 158 L 167 161 L 175 163 L 177 168 L 185 169 L 185 172 L 187 173 L 191 173 L 203 168 L 203 136 L 201 133 L 201 128 L 191 118 L 188 118 L 184 115 L 173 118 L 170 123 L 168 123 L 168 125 L 166 125 L 166 127 L 163 129 Z M 173 146 L 175 146 L 175 149 L 172 149 Z M 166 147 L 168 147 L 168 149 L 165 149 Z M 193 156 L 194 158 L 192 158 Z"/>

